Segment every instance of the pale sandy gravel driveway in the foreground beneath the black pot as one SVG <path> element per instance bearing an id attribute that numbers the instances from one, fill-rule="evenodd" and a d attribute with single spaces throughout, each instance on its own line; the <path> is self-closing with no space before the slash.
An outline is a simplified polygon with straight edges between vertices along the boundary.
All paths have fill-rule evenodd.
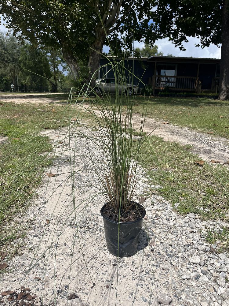
<path id="1" fill-rule="evenodd" d="M 47 134 L 57 144 L 65 130 Z M 75 141 L 72 137 L 72 149 Z M 87 150 L 85 139 L 78 138 L 77 147 Z M 193 213 L 179 216 L 160 195 L 145 196 L 142 205 L 147 213 L 138 252 L 117 265 L 106 248 L 100 216 L 104 200 L 88 200 L 88 186 L 96 183 L 93 175 L 75 174 L 77 228 L 69 173 L 73 163 L 79 170 L 85 160 L 75 156 L 70 162 L 67 140 L 57 151 L 55 164 L 47 170 L 57 176 L 45 175 L 39 198 L 23 217 L 23 224 L 30 225 L 26 245 L 20 256 L 8 262 L 10 272 L 0 274 L 0 293 L 11 290 L 0 298 L 1 305 L 32 305 L 33 301 L 44 306 L 229 306 L 228 254 L 216 254 L 215 246 L 201 235 L 201 230 L 225 222 L 202 222 Z M 153 185 L 142 175 L 136 199 Z"/>

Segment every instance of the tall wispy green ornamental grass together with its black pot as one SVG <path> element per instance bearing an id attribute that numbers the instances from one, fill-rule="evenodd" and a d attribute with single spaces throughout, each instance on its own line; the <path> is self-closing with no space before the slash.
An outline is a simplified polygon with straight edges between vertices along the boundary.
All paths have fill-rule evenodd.
<path id="1" fill-rule="evenodd" d="M 98 91 L 95 91 L 95 97 L 90 98 L 90 106 L 85 112 L 92 124 L 87 126 L 88 133 L 82 133 L 89 148 L 89 153 L 85 154 L 86 163 L 96 176 L 97 194 L 104 199 L 100 212 L 104 220 L 107 249 L 111 254 L 123 257 L 137 251 L 146 214 L 144 207 L 133 201 L 140 180 L 138 158 L 145 139 L 146 108 L 143 108 L 136 133 L 136 92 L 143 83 L 131 69 L 125 68 L 124 58 L 117 60 L 113 57 L 112 61 L 109 60 L 104 77 L 111 75 L 115 79 L 115 92 L 101 91 L 98 95 Z M 94 82 L 93 88 L 86 90 L 87 101 L 87 92 L 91 94 L 97 86 L 98 82 Z M 96 149 L 90 150 L 90 144 L 96 144 Z"/>

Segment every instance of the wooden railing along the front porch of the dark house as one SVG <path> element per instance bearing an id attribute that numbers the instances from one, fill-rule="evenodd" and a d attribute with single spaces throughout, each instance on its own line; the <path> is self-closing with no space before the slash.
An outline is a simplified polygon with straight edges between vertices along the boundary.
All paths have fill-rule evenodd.
<path id="1" fill-rule="evenodd" d="M 185 90 L 200 93 L 201 81 L 197 76 L 165 76 L 156 75 L 150 78 L 154 89 Z"/>

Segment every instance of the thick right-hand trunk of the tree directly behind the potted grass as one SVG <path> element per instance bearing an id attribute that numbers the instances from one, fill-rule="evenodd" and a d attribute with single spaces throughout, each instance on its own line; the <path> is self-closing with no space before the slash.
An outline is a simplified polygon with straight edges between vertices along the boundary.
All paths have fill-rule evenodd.
<path id="1" fill-rule="evenodd" d="M 92 45 L 91 52 L 88 60 L 88 68 L 89 68 L 89 79 L 91 80 L 90 86 L 93 87 L 95 84 L 95 80 L 98 78 L 98 69 L 100 64 L 101 52 L 103 50 L 103 45 L 105 42 L 105 33 L 100 33 L 98 35 L 98 39 Z"/>

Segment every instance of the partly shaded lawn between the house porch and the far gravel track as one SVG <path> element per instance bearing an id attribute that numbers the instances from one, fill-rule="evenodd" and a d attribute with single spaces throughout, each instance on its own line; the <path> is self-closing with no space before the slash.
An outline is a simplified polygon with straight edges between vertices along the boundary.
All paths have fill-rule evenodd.
<path id="1" fill-rule="evenodd" d="M 147 103 L 147 117 L 229 139 L 229 101 L 178 97 L 153 97 L 145 101 L 144 97 L 136 96 L 136 112 L 141 113 Z"/>

